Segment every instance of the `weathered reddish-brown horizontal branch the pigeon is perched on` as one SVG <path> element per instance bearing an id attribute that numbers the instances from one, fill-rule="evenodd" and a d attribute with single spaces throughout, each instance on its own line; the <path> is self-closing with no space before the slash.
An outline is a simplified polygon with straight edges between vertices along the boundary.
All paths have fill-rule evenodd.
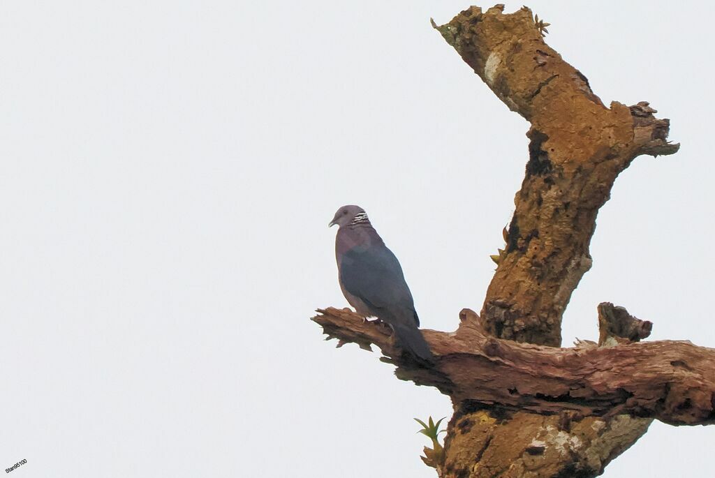
<path id="1" fill-rule="evenodd" d="M 690 342 L 559 349 L 488 337 L 472 316 L 455 333 L 423 330 L 437 357 L 435 367 L 425 369 L 400 354 L 385 325 L 363 323 L 345 309 L 318 312 L 313 320 L 328 338 L 375 344 L 385 362 L 398 367 L 400 379 L 437 387 L 455 404 L 581 417 L 625 413 L 669 424 L 715 422 L 715 349 Z"/>

